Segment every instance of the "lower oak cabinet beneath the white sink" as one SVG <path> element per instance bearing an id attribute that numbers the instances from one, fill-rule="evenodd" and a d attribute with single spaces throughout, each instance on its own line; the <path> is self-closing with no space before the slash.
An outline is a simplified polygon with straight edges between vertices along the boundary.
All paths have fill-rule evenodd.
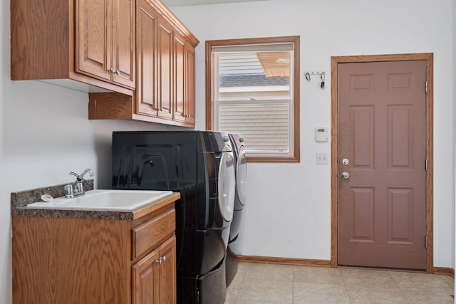
<path id="1" fill-rule="evenodd" d="M 175 304 L 177 198 L 131 220 L 13 216 L 13 303 Z"/>

